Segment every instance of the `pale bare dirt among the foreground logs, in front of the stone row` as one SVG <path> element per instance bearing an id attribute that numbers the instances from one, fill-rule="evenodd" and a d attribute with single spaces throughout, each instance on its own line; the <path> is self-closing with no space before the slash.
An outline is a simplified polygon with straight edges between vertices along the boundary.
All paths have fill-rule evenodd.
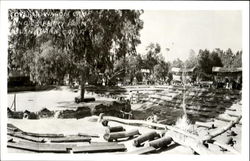
<path id="1" fill-rule="evenodd" d="M 236 113 L 241 114 L 241 105 L 234 104 L 231 109 L 236 109 Z M 65 135 L 74 135 L 78 133 L 88 133 L 92 135 L 99 135 L 99 138 L 93 138 L 93 142 L 106 142 L 103 138 L 105 133 L 105 128 L 100 122 L 97 122 L 98 116 L 85 117 L 83 119 L 39 119 L 39 120 L 25 120 L 25 119 L 9 119 L 8 122 L 17 126 L 26 132 L 34 132 L 34 133 L 54 133 L 54 134 L 65 134 Z M 228 124 L 228 122 L 214 120 L 214 125 L 216 127 L 224 127 Z M 60 126 L 58 126 L 60 125 Z M 132 129 L 138 129 L 141 134 L 147 133 L 149 131 L 155 130 L 148 127 L 142 126 L 130 126 L 124 125 L 116 122 L 110 122 L 109 126 L 118 126 L 122 125 L 126 131 Z M 241 127 L 242 125 L 237 124 L 236 127 L 233 127 L 231 130 L 234 131 L 237 135 L 233 136 L 233 140 L 235 144 L 233 148 L 238 152 L 241 152 Z M 206 128 L 195 128 L 196 132 L 201 136 L 205 136 L 208 132 L 211 132 L 212 129 L 208 130 Z M 158 133 L 162 133 L 162 130 L 156 130 Z M 218 142 L 224 143 L 227 138 L 230 137 L 228 132 L 218 136 L 215 138 Z M 121 143 L 124 143 L 127 152 L 135 150 L 133 146 L 133 140 L 125 140 Z M 147 144 L 147 143 L 145 143 Z M 216 154 L 231 154 L 230 152 L 222 152 L 222 148 L 217 145 L 210 144 L 209 148 L 212 149 Z M 22 152 L 20 150 L 10 149 L 9 152 Z M 172 146 L 170 148 L 164 149 L 162 151 L 158 151 L 160 154 L 193 154 L 193 150 L 186 146 Z"/>

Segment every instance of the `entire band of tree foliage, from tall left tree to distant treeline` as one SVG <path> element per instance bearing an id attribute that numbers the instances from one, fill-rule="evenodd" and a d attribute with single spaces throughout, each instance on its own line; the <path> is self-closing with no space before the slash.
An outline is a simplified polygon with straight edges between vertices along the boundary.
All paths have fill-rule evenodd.
<path id="1" fill-rule="evenodd" d="M 158 43 L 150 43 L 146 54 L 136 52 L 143 21 L 141 10 L 64 10 L 10 9 L 8 68 L 21 69 L 39 84 L 70 81 L 97 81 L 101 76 L 110 84 L 116 77 L 142 80 L 141 69 L 150 78 L 165 80 L 170 66 L 196 67 L 209 75 L 212 67 L 242 66 L 242 51 L 190 50 L 183 62 L 166 62 Z M 169 50 L 169 49 L 167 49 Z M 145 73 L 144 73 L 145 74 Z M 127 79 L 127 78 L 126 78 Z"/>

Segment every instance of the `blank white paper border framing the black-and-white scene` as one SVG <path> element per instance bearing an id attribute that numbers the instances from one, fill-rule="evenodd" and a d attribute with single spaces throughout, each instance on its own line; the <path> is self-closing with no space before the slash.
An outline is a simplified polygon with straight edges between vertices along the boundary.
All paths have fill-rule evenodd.
<path id="1" fill-rule="evenodd" d="M 112 154 L 15 154 L 7 152 L 7 48 L 8 9 L 144 9 L 144 10 L 239 10 L 242 11 L 243 37 L 243 96 L 242 96 L 242 151 L 241 155 L 112 155 Z M 2 1 L 0 42 L 0 107 L 2 160 L 248 160 L 249 156 L 249 2 L 176 2 L 176 1 Z"/>

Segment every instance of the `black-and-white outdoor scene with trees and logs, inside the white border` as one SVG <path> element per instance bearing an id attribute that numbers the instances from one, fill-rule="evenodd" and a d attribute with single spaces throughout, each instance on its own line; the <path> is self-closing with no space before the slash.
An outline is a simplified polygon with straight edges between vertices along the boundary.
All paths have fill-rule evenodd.
<path id="1" fill-rule="evenodd" d="M 243 11 L 46 6 L 6 10 L 7 155 L 242 155 Z"/>

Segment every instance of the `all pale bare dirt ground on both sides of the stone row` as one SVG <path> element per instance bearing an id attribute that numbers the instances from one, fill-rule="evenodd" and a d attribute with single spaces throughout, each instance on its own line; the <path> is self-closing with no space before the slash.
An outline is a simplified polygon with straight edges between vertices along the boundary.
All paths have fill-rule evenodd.
<path id="1" fill-rule="evenodd" d="M 62 92 L 63 91 L 63 92 Z M 39 91 L 39 92 L 22 92 L 16 94 L 17 99 L 17 111 L 39 111 L 42 108 L 46 107 L 49 110 L 60 110 L 62 108 L 67 108 L 71 105 L 74 98 L 79 96 L 79 91 L 74 92 L 67 87 L 61 87 L 60 89 L 53 89 L 48 91 Z M 101 98 L 95 94 L 87 93 L 88 97 L 95 97 L 99 100 L 107 100 L 109 98 Z M 8 106 L 10 107 L 13 102 L 14 94 L 8 94 Z M 132 109 L 139 108 L 138 105 L 133 105 Z M 241 115 L 242 105 L 241 103 L 233 104 L 230 109 L 234 109 L 234 113 Z M 88 133 L 88 134 L 98 134 L 99 138 L 93 138 L 92 141 L 105 142 L 103 135 L 105 132 L 105 127 L 101 123 L 97 122 L 97 116 L 85 117 L 83 119 L 39 119 L 39 120 L 27 120 L 27 119 L 8 119 L 8 123 L 12 123 L 23 131 L 34 132 L 34 133 L 57 133 L 57 134 L 78 134 L 78 133 Z M 216 127 L 224 127 L 228 122 L 214 120 L 214 125 Z M 138 129 L 140 133 L 146 133 L 152 131 L 152 129 L 147 127 L 138 127 L 138 126 L 128 126 L 120 123 L 111 122 L 110 126 L 122 125 L 126 130 Z M 207 130 L 206 128 L 196 128 L 197 133 L 200 135 L 206 135 L 208 132 L 211 132 L 216 129 Z M 242 125 L 237 124 L 236 127 L 231 129 L 237 135 L 233 136 L 235 144 L 233 148 L 237 151 L 241 151 L 241 130 Z M 158 131 L 162 132 L 162 131 Z M 218 136 L 215 140 L 220 142 L 225 142 L 225 140 L 230 137 L 228 132 Z M 133 140 L 127 140 L 122 143 L 129 151 L 135 149 L 132 145 Z M 209 145 L 214 151 L 221 152 L 221 148 L 215 145 Z M 20 152 L 18 150 L 11 149 L 10 152 Z M 185 146 L 175 146 L 174 148 L 169 148 L 160 152 L 161 154 L 193 154 L 193 151 Z M 228 152 L 225 152 L 228 153 Z"/>

